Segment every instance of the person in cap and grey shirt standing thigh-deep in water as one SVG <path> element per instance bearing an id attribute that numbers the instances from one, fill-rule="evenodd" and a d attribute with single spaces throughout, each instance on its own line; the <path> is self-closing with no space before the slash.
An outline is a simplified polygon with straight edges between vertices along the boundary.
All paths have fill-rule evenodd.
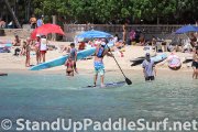
<path id="1" fill-rule="evenodd" d="M 145 80 L 154 80 L 156 76 L 155 63 L 151 59 L 150 53 L 146 53 L 145 59 L 142 63 Z"/>

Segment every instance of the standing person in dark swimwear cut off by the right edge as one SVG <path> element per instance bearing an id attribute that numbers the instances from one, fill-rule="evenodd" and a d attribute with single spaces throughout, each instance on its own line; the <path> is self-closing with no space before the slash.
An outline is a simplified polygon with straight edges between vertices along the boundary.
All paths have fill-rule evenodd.
<path id="1" fill-rule="evenodd" d="M 196 47 L 196 51 L 194 53 L 194 62 L 191 64 L 191 67 L 194 69 L 193 78 L 198 79 L 198 47 Z"/>

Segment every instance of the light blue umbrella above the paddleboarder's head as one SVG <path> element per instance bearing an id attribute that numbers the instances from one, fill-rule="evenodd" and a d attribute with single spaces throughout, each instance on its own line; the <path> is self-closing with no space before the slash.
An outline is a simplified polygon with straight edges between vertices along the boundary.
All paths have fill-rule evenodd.
<path id="1" fill-rule="evenodd" d="M 108 38 L 108 37 L 112 37 L 111 34 L 102 32 L 102 31 L 86 31 L 79 35 L 77 35 L 77 37 L 82 37 L 82 38 Z"/>

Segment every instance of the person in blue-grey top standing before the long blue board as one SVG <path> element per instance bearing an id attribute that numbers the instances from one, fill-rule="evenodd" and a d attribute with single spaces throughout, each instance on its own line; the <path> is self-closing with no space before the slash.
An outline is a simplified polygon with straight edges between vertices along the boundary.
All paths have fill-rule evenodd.
<path id="1" fill-rule="evenodd" d="M 70 43 L 70 55 L 69 55 L 74 62 L 74 69 L 76 73 L 78 73 L 77 67 L 76 67 L 76 62 L 77 62 L 77 50 L 75 48 L 75 43 Z"/>

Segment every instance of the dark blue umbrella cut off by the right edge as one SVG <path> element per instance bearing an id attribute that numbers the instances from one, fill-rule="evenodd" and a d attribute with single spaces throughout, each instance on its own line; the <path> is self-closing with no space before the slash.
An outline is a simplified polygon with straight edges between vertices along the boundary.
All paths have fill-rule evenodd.
<path id="1" fill-rule="evenodd" d="M 194 25 L 185 25 L 185 26 L 182 26 L 180 29 L 178 29 L 175 33 L 183 34 L 183 33 L 187 33 L 187 32 L 198 32 L 198 28 L 194 26 Z"/>

